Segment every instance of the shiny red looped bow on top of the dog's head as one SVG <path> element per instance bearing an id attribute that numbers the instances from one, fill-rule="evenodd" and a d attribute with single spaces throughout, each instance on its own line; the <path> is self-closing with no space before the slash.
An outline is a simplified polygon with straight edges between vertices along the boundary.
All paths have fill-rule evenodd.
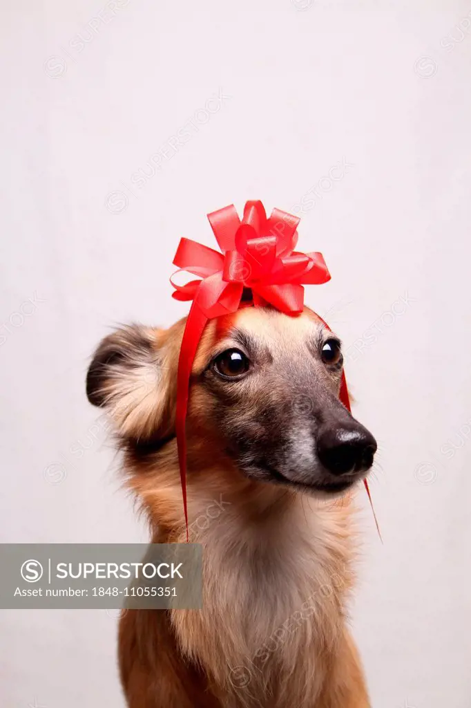
<path id="1" fill-rule="evenodd" d="M 267 219 L 262 202 L 247 202 L 242 222 L 233 204 L 208 219 L 223 253 L 181 239 L 173 263 L 203 280 L 183 286 L 172 280 L 173 297 L 193 300 L 208 319 L 236 312 L 244 287 L 252 289 L 255 305 L 269 302 L 281 312 L 298 314 L 303 284 L 330 280 L 321 253 L 293 250 L 298 217 L 274 209 Z"/>

